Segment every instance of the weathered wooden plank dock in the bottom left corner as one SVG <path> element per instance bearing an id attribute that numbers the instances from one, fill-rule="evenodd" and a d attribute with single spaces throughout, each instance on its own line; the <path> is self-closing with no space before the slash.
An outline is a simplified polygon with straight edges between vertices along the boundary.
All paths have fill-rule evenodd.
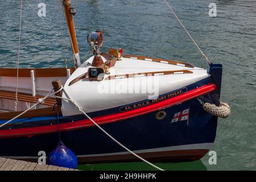
<path id="1" fill-rule="evenodd" d="M 0 171 L 79 171 L 46 164 L 26 162 L 23 160 L 0 158 Z"/>

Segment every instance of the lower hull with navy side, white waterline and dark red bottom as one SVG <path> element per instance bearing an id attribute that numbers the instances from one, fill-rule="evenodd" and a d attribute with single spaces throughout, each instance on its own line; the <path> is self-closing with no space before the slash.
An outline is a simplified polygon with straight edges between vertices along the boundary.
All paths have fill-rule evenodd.
<path id="1" fill-rule="evenodd" d="M 220 100 L 221 67 L 218 65 L 217 68 L 212 67 L 211 70 L 214 71 L 212 77 L 194 85 L 188 85 L 187 88 L 192 90 L 200 85 L 216 84 L 216 90 L 200 96 L 200 99 L 217 104 Z M 91 116 L 104 115 L 116 110 L 115 108 L 100 113 L 91 113 Z M 189 112 L 188 117 L 182 119 L 181 114 L 186 110 Z M 197 160 L 207 154 L 216 137 L 217 117 L 204 111 L 197 98 L 161 109 L 166 113 L 163 119 L 156 118 L 158 111 L 118 122 L 105 123 L 101 127 L 127 148 L 152 162 Z M 180 114 L 180 118 L 175 119 L 179 115 L 177 113 Z M 84 118 L 84 115 L 72 117 L 60 115 L 60 123 L 76 122 Z M 26 123 L 26 121 L 23 122 Z M 27 127 L 42 125 L 42 122 L 42 119 L 27 122 Z M 56 123 L 56 117 L 48 118 L 47 122 L 43 123 L 49 122 Z M 80 164 L 138 160 L 96 126 L 61 131 L 60 137 L 65 146 L 75 152 Z M 39 151 L 49 154 L 58 142 L 59 133 L 57 132 L 0 138 L 0 156 L 36 160 L 39 157 Z"/>

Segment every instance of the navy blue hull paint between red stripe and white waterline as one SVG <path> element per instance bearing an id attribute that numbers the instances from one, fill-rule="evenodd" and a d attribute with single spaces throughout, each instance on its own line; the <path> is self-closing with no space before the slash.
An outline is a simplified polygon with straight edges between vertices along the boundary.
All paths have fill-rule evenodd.
<path id="1" fill-rule="evenodd" d="M 175 113 L 188 108 L 188 120 L 171 122 Z M 127 119 L 126 121 L 102 125 L 102 128 L 133 151 L 214 142 L 217 117 L 205 112 L 196 99 L 181 105 L 168 107 L 163 109 L 163 111 L 166 112 L 166 117 L 160 121 L 156 119 L 157 112 L 154 112 Z M 80 161 L 86 162 L 86 160 L 88 160 L 89 163 L 93 162 L 90 160 L 90 157 L 93 159 L 93 156 L 97 156 L 97 154 L 101 154 L 100 156 L 109 156 L 111 153 L 113 155 L 115 155 L 115 153 L 119 155 L 118 152 L 124 152 L 123 148 L 113 142 L 112 139 L 107 137 L 97 127 L 61 132 L 61 140 L 67 147 L 75 152 L 77 156 L 81 157 Z M 21 158 L 27 156 L 25 158 L 36 158 L 38 157 L 39 151 L 46 151 L 46 154 L 49 154 L 49 152 L 56 147 L 58 141 L 58 133 L 35 135 L 33 137 L 0 139 L 0 146 L 2 146 L 0 156 L 20 156 Z M 185 150 L 192 149 L 193 148 L 185 148 Z M 203 149 L 203 153 L 205 153 L 209 148 L 196 148 L 196 150 L 200 149 Z M 154 153 L 157 151 L 158 150 L 150 150 L 148 152 Z M 183 152 L 180 153 L 183 154 Z M 112 159 L 113 155 L 110 159 L 105 158 L 104 161 L 115 161 Z M 86 158 L 86 156 L 88 156 L 88 158 Z M 168 161 L 164 156 L 159 155 L 158 157 L 156 156 L 154 161 Z M 176 157 L 177 160 L 182 160 L 177 156 L 174 157 Z M 199 155 L 192 156 L 191 160 L 196 160 L 201 157 L 202 155 L 199 152 Z M 133 156 L 126 156 L 126 158 L 134 159 Z M 173 159 L 175 160 L 175 158 Z M 173 159 L 170 157 L 170 160 Z M 117 160 L 121 159 L 117 158 Z"/>

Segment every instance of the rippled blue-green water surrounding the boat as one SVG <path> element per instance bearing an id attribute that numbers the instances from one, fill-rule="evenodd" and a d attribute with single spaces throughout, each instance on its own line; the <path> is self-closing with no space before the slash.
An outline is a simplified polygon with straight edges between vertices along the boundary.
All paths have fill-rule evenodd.
<path id="1" fill-rule="evenodd" d="M 39 0 L 28 0 L 38 10 Z M 56 1 L 44 0 L 44 22 L 24 2 L 20 67 L 64 67 Z M 186 61 L 197 67 L 207 64 L 187 34 L 158 0 L 73 0 L 74 17 L 82 59 L 91 51 L 86 35 L 104 31 L 105 46 L 123 47 L 125 54 Z M 256 169 L 256 2 L 254 0 L 169 0 L 188 31 L 209 59 L 224 67 L 221 100 L 232 115 L 218 120 L 217 164 L 209 156 L 191 163 L 157 164 L 164 169 L 232 170 Z M 217 5 L 217 17 L 208 15 L 209 3 Z M 15 67 L 18 53 L 19 2 L 5 1 L 0 7 L 1 67 Z M 64 24 L 63 19 L 63 24 Z M 68 64 L 72 65 L 65 31 Z M 79 166 L 86 170 L 149 169 L 144 163 L 114 163 Z"/>

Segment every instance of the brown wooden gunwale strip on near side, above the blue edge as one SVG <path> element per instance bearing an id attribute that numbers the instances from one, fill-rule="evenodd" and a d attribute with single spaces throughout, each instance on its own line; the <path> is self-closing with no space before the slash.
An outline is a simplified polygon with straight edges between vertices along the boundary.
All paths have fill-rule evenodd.
<path id="1" fill-rule="evenodd" d="M 7 113 L 1 113 L 0 114 L 0 120 L 3 119 L 12 119 L 16 115 L 22 113 L 23 111 L 13 111 L 13 112 L 7 112 Z M 21 115 L 19 118 L 32 118 L 32 117 L 44 117 L 44 116 L 49 116 L 49 115 L 56 115 L 57 114 L 57 106 L 54 107 L 45 107 L 42 109 L 33 109 L 29 110 L 23 115 Z M 59 107 L 59 114 L 61 114 L 61 109 Z M 13 125 L 13 124 L 10 124 Z"/>

